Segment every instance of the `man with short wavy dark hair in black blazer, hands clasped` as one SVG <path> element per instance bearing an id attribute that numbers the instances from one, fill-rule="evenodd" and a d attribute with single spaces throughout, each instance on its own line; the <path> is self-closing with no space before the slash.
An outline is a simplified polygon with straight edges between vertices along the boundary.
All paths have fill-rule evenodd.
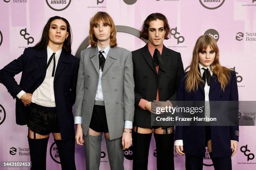
<path id="1" fill-rule="evenodd" d="M 148 43 L 133 51 L 135 113 L 133 122 L 133 170 L 147 170 L 148 150 L 154 129 L 158 170 L 174 170 L 174 127 L 151 125 L 151 102 L 176 100 L 179 76 L 184 72 L 179 52 L 166 48 L 170 28 L 161 13 L 143 22 L 140 37 Z"/>

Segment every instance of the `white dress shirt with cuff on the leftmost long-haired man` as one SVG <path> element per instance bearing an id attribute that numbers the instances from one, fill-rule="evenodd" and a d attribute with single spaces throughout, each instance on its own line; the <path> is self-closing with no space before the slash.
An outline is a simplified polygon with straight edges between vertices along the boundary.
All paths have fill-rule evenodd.
<path id="1" fill-rule="evenodd" d="M 55 73 L 58 65 L 59 57 L 61 55 L 61 50 L 55 52 Z M 49 46 L 47 46 L 47 63 L 54 51 L 51 50 Z M 51 77 L 52 70 L 54 66 L 54 60 L 51 60 L 49 67 L 46 70 L 46 76 L 41 85 L 33 92 L 31 102 L 36 103 L 37 105 L 45 106 L 45 107 L 56 107 L 55 105 L 55 97 L 54 97 L 54 77 Z M 55 74 L 54 74 L 55 76 Z M 21 90 L 17 97 L 20 97 L 26 92 Z"/>

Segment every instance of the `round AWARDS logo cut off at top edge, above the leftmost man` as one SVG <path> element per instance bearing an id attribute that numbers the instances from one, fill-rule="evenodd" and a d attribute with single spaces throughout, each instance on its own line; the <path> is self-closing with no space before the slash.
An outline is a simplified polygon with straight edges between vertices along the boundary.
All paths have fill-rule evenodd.
<path id="1" fill-rule="evenodd" d="M 69 7 L 71 0 L 46 0 L 46 3 L 52 10 L 62 11 Z"/>

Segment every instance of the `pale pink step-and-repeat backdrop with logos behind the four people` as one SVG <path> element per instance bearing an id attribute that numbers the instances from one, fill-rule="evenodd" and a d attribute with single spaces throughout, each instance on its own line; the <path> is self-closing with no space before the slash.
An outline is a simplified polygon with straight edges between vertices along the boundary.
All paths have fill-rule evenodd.
<path id="1" fill-rule="evenodd" d="M 19 57 L 24 48 L 34 46 L 46 21 L 55 15 L 69 20 L 72 54 L 76 55 L 87 47 L 89 20 L 98 11 L 113 17 L 118 25 L 118 46 L 131 51 L 145 45 L 137 37 L 143 20 L 151 13 L 163 13 L 172 28 L 172 37 L 164 45 L 181 53 L 184 68 L 191 61 L 197 38 L 212 35 L 218 41 L 221 64 L 236 70 L 239 100 L 256 100 L 256 0 L 0 0 L 0 68 Z M 15 79 L 19 82 L 20 74 Z M 27 132 L 26 126 L 15 124 L 15 100 L 0 84 L 0 161 L 30 160 Z M 84 170 L 84 148 L 76 145 L 75 152 L 77 169 Z M 170 154 L 174 154 L 175 169 L 184 170 L 184 156 L 175 151 Z M 256 128 L 241 126 L 233 169 L 256 170 L 255 154 Z M 101 156 L 100 170 L 110 170 L 104 139 Z M 124 157 L 125 170 L 131 170 L 132 150 L 125 150 Z M 59 155 L 50 135 L 47 170 L 57 169 L 61 169 Z M 148 169 L 156 170 L 153 136 Z M 213 170 L 207 149 L 204 170 Z"/>

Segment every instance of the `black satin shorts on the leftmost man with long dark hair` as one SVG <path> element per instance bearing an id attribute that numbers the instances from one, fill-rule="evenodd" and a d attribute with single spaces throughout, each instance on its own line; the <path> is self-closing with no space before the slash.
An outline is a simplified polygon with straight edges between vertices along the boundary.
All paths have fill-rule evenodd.
<path id="1" fill-rule="evenodd" d="M 56 107 L 44 107 L 31 103 L 28 128 L 40 135 L 60 133 Z"/>

